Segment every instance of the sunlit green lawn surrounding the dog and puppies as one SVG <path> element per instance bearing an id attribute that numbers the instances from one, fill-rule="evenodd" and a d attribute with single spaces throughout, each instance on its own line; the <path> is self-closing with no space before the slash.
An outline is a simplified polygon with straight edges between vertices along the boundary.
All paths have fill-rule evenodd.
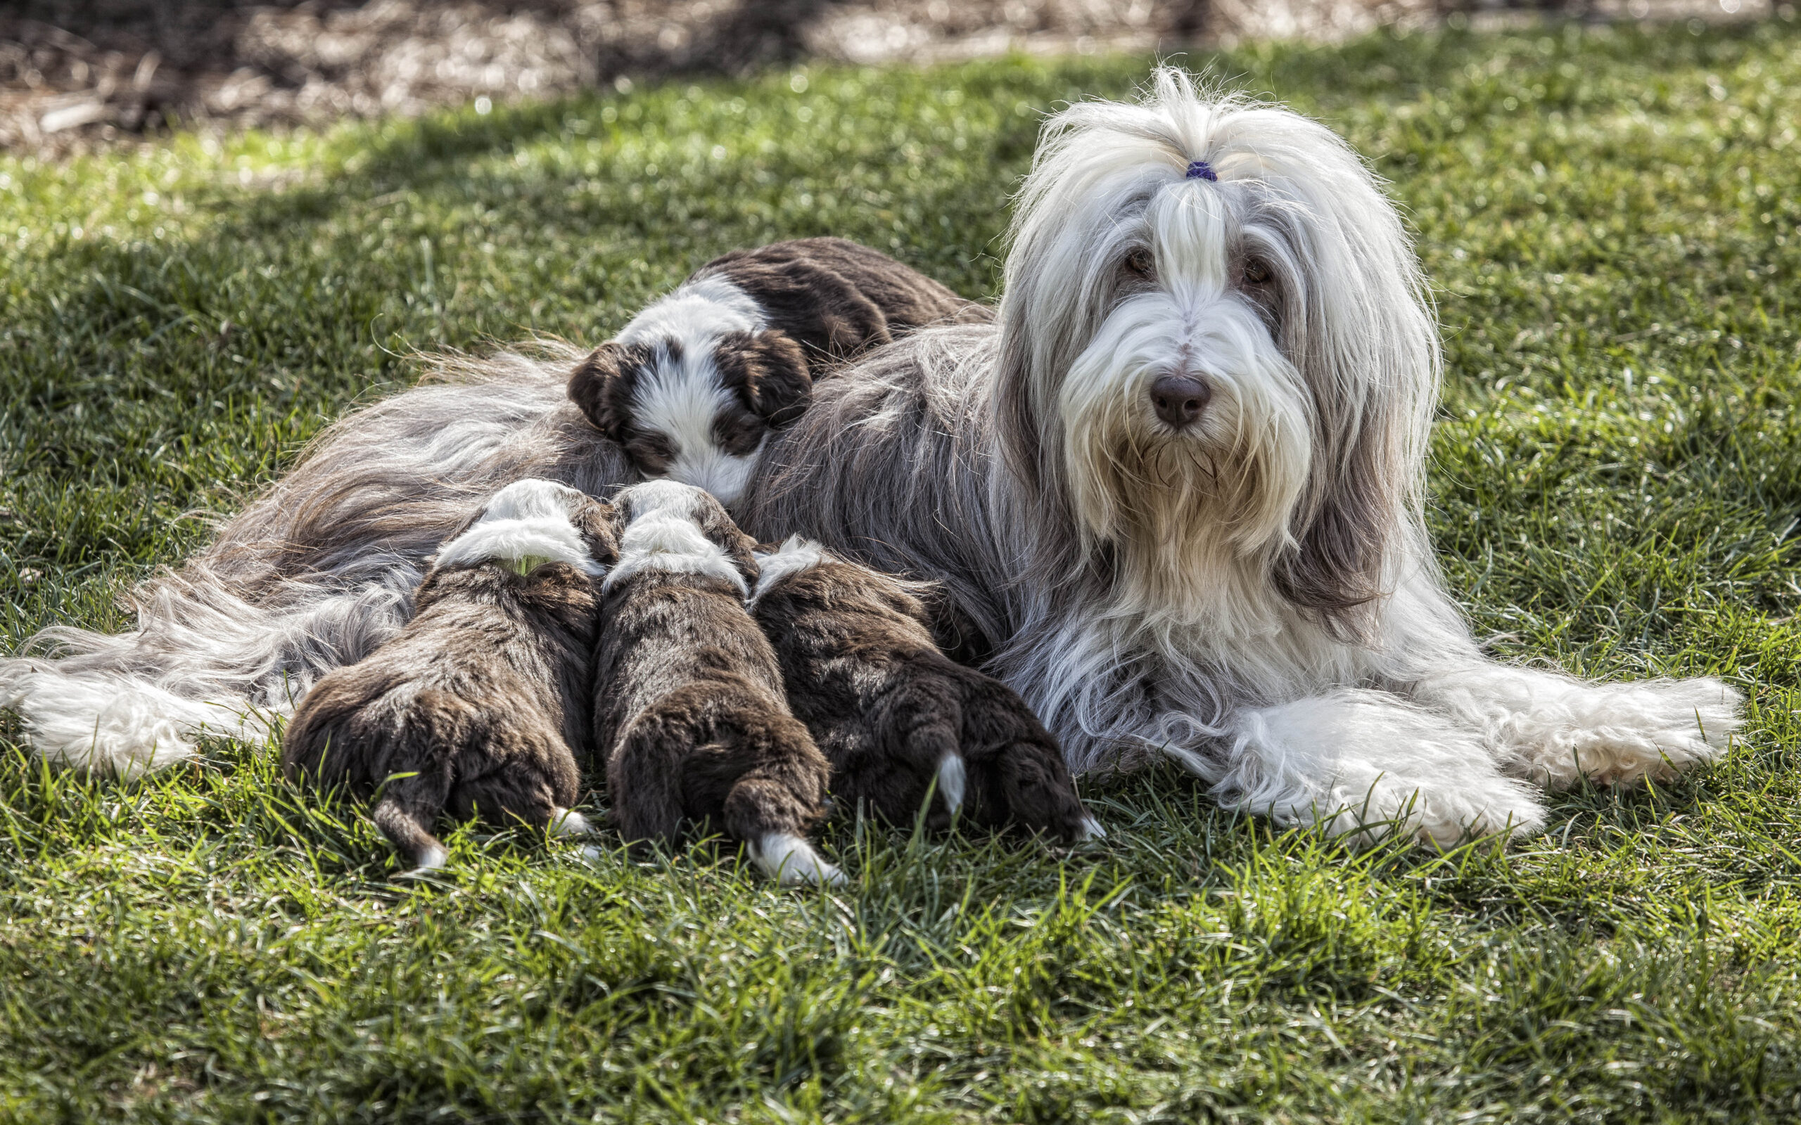
<path id="1" fill-rule="evenodd" d="M 1479 630 L 1747 689 L 1725 761 L 1511 850 L 1354 853 L 1172 770 L 1106 846 L 828 835 L 843 893 L 472 830 L 441 886 L 268 747 L 142 783 L 0 727 L 0 1120 L 1675 1121 L 1801 1114 L 1801 32 L 1196 59 L 1405 203 Z M 996 277 L 1039 113 L 1147 59 L 809 70 L 0 158 L 0 643 L 115 628 L 418 351 L 603 338 L 729 247 Z M 801 88 L 798 92 L 798 88 Z M 16 731 L 14 731 L 16 733 Z"/>

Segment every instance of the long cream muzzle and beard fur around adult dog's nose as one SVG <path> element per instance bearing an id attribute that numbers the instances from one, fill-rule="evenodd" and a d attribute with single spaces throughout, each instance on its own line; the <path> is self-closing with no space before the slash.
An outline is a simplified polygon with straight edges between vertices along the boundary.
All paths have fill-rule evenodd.
<path id="1" fill-rule="evenodd" d="M 1156 418 L 1167 373 L 1207 380 L 1187 430 Z M 1270 569 L 1293 547 L 1311 466 L 1309 400 L 1255 311 L 1226 297 L 1180 315 L 1163 293 L 1122 302 L 1061 391 L 1064 464 L 1091 545 L 1111 547 L 1113 610 L 1165 632 L 1275 628 Z"/>

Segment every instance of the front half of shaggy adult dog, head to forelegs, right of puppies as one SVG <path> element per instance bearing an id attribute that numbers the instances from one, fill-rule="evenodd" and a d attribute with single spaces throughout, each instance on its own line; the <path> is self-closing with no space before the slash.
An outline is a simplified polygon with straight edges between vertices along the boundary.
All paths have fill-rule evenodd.
<path id="1" fill-rule="evenodd" d="M 1171 754 L 1282 823 L 1529 832 L 1531 783 L 1722 752 L 1718 680 L 1479 652 L 1423 524 L 1437 383 L 1358 155 L 1162 68 L 1138 104 L 1046 124 L 1000 324 L 821 385 L 740 522 L 944 581 L 1073 769 Z"/>

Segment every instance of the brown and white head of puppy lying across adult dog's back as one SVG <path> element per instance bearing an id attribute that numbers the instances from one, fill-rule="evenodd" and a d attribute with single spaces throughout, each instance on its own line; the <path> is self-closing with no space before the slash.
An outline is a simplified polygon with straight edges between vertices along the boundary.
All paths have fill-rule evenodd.
<path id="1" fill-rule="evenodd" d="M 720 329 L 706 311 L 661 317 L 643 329 L 634 320 L 582 360 L 569 398 L 647 477 L 735 504 L 764 439 L 807 409 L 812 374 L 785 333 Z"/>

